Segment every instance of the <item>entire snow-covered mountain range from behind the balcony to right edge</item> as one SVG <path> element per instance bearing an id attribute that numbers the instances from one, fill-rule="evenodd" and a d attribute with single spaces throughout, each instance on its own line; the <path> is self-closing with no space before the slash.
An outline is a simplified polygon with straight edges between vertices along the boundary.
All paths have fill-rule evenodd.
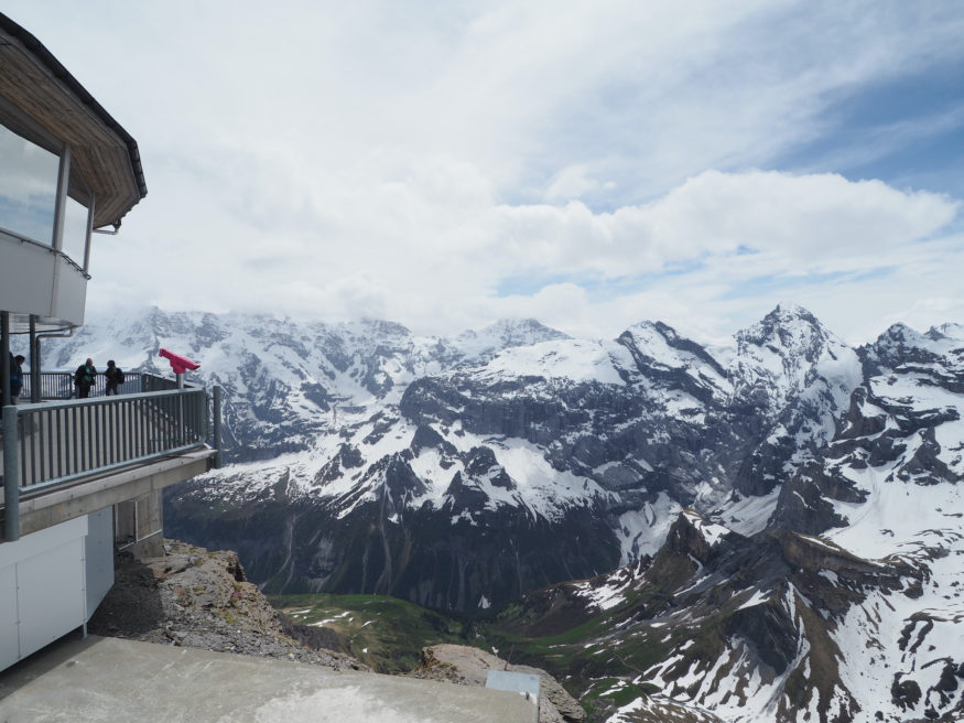
<path id="1" fill-rule="evenodd" d="M 47 358 L 158 368 L 159 346 L 227 389 L 235 462 L 180 487 L 167 529 L 269 590 L 470 612 L 592 579 L 543 595 L 611 618 L 587 670 L 659 691 L 614 722 L 964 705 L 960 325 L 853 348 L 781 305 L 711 349 L 659 322 L 424 338 L 152 310 Z"/>

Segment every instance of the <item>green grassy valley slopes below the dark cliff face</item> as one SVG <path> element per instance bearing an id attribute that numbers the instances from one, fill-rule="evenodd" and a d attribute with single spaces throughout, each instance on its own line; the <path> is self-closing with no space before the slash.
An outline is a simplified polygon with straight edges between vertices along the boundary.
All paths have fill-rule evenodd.
<path id="1" fill-rule="evenodd" d="M 384 595 L 318 593 L 270 600 L 295 623 L 324 621 L 324 627 L 337 633 L 346 652 L 379 671 L 414 670 L 427 645 L 473 645 L 495 650 L 509 662 L 545 669 L 581 701 L 591 720 L 602 720 L 614 706 L 656 692 L 648 683 L 631 681 L 674 646 L 693 637 L 698 643 L 694 646 L 697 655 L 718 646 L 716 616 L 676 629 L 651 628 L 635 621 L 661 608 L 667 589 L 691 572 L 672 562 L 659 571 L 660 584 L 629 592 L 624 603 L 609 611 L 591 613 L 566 594 L 566 585 L 549 589 L 545 595 L 534 593 L 496 618 L 474 621 Z M 706 652 L 712 656 L 718 650 Z"/>

